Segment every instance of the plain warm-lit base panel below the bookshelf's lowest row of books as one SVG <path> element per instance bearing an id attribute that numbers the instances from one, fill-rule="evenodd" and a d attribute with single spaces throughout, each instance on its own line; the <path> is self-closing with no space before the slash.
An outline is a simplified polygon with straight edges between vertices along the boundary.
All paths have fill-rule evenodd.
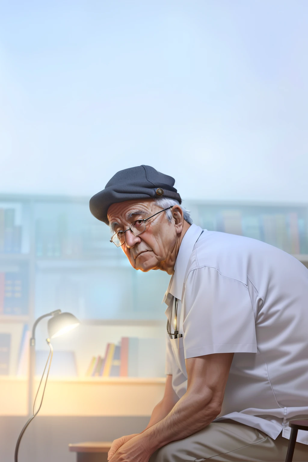
<path id="1" fill-rule="evenodd" d="M 0 384 L 1 415 L 27 415 L 26 378 L 3 376 Z M 164 377 L 50 377 L 40 415 L 148 416 L 163 398 L 164 386 Z"/>

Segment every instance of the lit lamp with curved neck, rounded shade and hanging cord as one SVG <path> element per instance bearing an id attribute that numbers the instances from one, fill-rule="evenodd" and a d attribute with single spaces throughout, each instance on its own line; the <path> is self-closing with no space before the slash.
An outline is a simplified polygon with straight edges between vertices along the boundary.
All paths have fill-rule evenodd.
<path id="1" fill-rule="evenodd" d="M 47 328 L 48 328 L 48 339 L 46 339 L 50 351 L 49 351 L 49 354 L 48 354 L 48 358 L 47 358 L 46 365 L 45 365 L 45 368 L 44 368 L 44 371 L 43 371 L 43 374 L 42 374 L 40 384 L 39 384 L 37 392 L 36 392 L 36 397 L 34 399 L 33 406 L 32 406 L 33 384 L 34 384 L 34 374 L 35 374 L 35 329 L 36 329 L 37 324 L 43 318 L 48 317 L 48 316 L 52 316 L 48 320 L 48 326 L 47 326 Z M 36 415 L 38 414 L 38 412 L 39 412 L 39 410 L 41 409 L 41 406 L 42 406 L 44 393 L 45 393 L 45 388 L 46 388 L 46 383 L 47 383 L 47 379 L 48 379 L 48 374 L 49 374 L 49 371 L 50 371 L 51 360 L 52 360 L 52 357 L 53 357 L 53 347 L 52 347 L 52 345 L 50 343 L 50 339 L 54 339 L 55 337 L 59 337 L 62 334 L 66 334 L 66 332 L 68 332 L 68 331 L 72 330 L 73 328 L 77 327 L 79 324 L 80 324 L 79 320 L 74 315 L 72 315 L 72 313 L 61 313 L 61 310 L 51 311 L 50 313 L 42 315 L 39 318 L 37 318 L 36 322 L 33 324 L 32 337 L 30 338 L 29 414 L 31 414 L 31 409 L 33 409 L 33 412 L 30 415 L 30 418 L 28 419 L 28 421 L 24 425 L 24 428 L 22 429 L 22 431 L 20 432 L 20 435 L 18 437 L 16 447 L 15 447 L 15 459 L 14 459 L 15 462 L 18 462 L 18 449 L 19 449 L 19 444 L 20 444 L 21 438 L 23 437 L 24 432 L 25 432 L 26 428 L 28 427 L 28 425 L 30 424 L 31 420 L 33 420 L 36 417 Z M 49 361 L 49 365 L 48 365 L 48 361 Z M 42 380 L 43 380 L 45 371 L 47 369 L 47 365 L 48 365 L 48 370 L 47 370 L 46 380 L 45 380 L 45 384 L 44 384 L 44 388 L 43 388 L 41 403 L 40 403 L 37 411 L 34 412 L 36 398 L 37 398 L 39 389 L 41 387 Z"/>

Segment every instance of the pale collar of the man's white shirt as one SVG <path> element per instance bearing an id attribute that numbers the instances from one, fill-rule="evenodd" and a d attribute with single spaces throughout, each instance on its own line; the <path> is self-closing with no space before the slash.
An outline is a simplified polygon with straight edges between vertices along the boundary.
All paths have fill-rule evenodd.
<path id="1" fill-rule="evenodd" d="M 188 230 L 186 231 L 182 239 L 179 253 L 177 254 L 175 261 L 175 272 L 171 276 L 168 289 L 163 298 L 163 302 L 165 302 L 166 304 L 169 304 L 171 296 L 178 298 L 179 300 L 182 299 L 184 278 L 188 261 L 190 255 L 193 252 L 194 245 L 199 239 L 202 231 L 203 230 L 202 228 L 200 228 L 200 226 L 192 224 L 189 226 Z M 169 294 L 171 294 L 171 296 Z"/>

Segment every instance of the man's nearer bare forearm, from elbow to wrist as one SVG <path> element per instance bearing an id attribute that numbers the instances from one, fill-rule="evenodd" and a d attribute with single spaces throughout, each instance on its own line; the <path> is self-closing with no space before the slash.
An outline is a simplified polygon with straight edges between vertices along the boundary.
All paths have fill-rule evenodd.
<path id="1" fill-rule="evenodd" d="M 220 409 L 208 395 L 188 391 L 175 404 L 169 414 L 143 432 L 145 444 L 152 452 L 171 441 L 186 438 L 209 425 Z"/>

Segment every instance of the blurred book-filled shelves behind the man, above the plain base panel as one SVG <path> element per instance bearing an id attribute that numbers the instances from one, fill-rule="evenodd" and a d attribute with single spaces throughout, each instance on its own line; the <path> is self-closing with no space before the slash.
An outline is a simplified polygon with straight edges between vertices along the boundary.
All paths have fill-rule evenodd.
<path id="1" fill-rule="evenodd" d="M 2 378 L 26 378 L 30 328 L 38 316 L 56 309 L 73 313 L 81 326 L 54 339 L 51 377 L 164 377 L 162 298 L 169 276 L 135 271 L 88 203 L 86 197 L 0 196 Z M 308 205 L 184 205 L 203 229 L 259 239 L 308 266 Z M 37 376 L 46 361 L 46 335 L 42 322 Z"/>

